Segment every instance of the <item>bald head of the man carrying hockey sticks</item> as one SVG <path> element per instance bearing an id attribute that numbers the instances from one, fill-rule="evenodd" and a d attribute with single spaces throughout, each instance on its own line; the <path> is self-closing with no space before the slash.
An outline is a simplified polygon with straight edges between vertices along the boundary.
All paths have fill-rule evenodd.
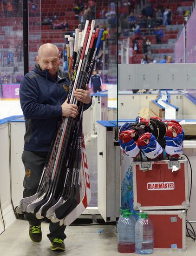
<path id="1" fill-rule="evenodd" d="M 43 44 L 39 47 L 36 61 L 42 70 L 54 76 L 57 73 L 60 64 L 59 49 L 53 44 Z"/>

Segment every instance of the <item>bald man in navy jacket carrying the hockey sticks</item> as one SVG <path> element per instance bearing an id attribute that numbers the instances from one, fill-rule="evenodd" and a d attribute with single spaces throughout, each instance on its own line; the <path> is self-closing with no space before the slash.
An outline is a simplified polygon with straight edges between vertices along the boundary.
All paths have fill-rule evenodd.
<path id="1" fill-rule="evenodd" d="M 78 115 L 78 107 L 67 103 L 69 90 L 68 75 L 59 73 L 59 49 L 53 44 L 39 47 L 34 69 L 27 73 L 20 85 L 20 105 L 25 116 L 26 133 L 22 161 L 25 166 L 23 197 L 34 195 L 37 191 L 52 138 L 62 116 Z M 91 106 L 88 87 L 74 92 L 78 101 L 84 103 L 84 110 Z M 33 214 L 26 214 L 29 222 L 29 236 L 35 243 L 41 242 L 41 220 Z M 52 250 L 65 250 L 65 226 L 50 223 Z"/>

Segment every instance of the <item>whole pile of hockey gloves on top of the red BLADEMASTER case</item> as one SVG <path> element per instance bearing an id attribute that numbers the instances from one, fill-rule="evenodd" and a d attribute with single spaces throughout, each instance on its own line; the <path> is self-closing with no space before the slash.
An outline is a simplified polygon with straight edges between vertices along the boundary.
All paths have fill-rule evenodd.
<path id="1" fill-rule="evenodd" d="M 164 152 L 168 158 L 178 158 L 183 154 L 183 140 L 184 131 L 179 122 L 137 117 L 134 123 L 125 123 L 120 128 L 118 141 L 123 154 L 134 158 L 141 157 L 142 152 L 147 159 L 155 159 L 163 158 Z"/>

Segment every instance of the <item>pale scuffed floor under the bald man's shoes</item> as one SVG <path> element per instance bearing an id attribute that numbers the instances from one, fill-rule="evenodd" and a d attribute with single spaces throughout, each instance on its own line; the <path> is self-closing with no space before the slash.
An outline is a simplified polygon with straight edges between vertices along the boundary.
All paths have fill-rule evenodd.
<path id="1" fill-rule="evenodd" d="M 34 244 L 28 236 L 28 222 L 16 220 L 0 236 L 0 256 L 119 256 L 116 227 L 110 225 L 69 226 L 66 228 L 65 252 L 52 252 L 48 224 L 42 223 L 42 242 Z M 98 230 L 103 229 L 102 234 Z M 186 252 L 155 251 L 154 256 L 196 256 L 196 243 L 187 238 Z M 126 255 L 126 254 L 125 254 Z M 136 253 L 130 254 L 138 255 Z"/>

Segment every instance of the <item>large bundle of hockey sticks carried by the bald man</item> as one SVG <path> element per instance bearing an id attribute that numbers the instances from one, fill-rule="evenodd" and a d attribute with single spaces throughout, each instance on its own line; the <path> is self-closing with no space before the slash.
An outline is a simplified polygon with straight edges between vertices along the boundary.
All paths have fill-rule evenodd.
<path id="1" fill-rule="evenodd" d="M 38 219 L 47 217 L 60 225 L 71 224 L 91 200 L 85 141 L 82 131 L 83 103 L 74 96 L 75 89 L 85 89 L 101 47 L 103 29 L 94 31 L 86 20 L 76 29 L 73 39 L 65 36 L 68 73 L 71 78 L 68 103 L 78 106 L 78 115 L 63 117 L 52 141 L 45 167 L 35 195 L 23 198 L 17 213 L 34 213 Z M 84 30 L 83 30 L 84 29 Z"/>

